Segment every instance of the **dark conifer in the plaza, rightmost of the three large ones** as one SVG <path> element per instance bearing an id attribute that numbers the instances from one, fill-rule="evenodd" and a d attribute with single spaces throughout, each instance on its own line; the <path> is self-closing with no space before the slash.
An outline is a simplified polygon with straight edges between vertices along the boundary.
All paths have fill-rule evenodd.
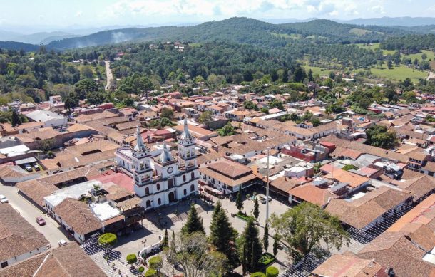
<path id="1" fill-rule="evenodd" d="M 258 237 L 259 231 L 254 221 L 247 221 L 245 230 L 238 241 L 240 259 L 244 259 L 247 271 L 253 272 L 258 269 L 258 261 L 262 254 L 262 244 Z"/>

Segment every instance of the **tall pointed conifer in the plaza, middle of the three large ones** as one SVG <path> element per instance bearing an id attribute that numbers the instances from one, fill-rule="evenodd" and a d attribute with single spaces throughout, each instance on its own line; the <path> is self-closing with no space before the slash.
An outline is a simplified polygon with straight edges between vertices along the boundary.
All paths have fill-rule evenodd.
<path id="1" fill-rule="evenodd" d="M 232 228 L 225 210 L 222 209 L 218 201 L 213 210 L 209 241 L 216 251 L 220 251 L 227 256 L 227 260 L 232 266 L 237 265 L 238 261 L 237 250 L 235 249 L 236 238 L 237 231 Z"/>

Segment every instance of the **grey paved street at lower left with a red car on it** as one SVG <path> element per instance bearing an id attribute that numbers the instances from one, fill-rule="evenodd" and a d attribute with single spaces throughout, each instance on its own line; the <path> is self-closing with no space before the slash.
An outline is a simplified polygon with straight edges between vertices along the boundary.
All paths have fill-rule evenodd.
<path id="1" fill-rule="evenodd" d="M 21 197 L 21 195 L 17 193 L 16 187 L 3 186 L 0 184 L 0 194 L 4 194 L 4 196 L 9 199 L 9 204 L 34 226 L 36 230 L 44 234 L 46 239 L 50 241 L 51 247 L 57 247 L 58 241 L 61 239 L 69 241 L 65 234 L 63 234 L 63 231 L 61 231 L 61 227 L 58 223 L 51 217 L 43 214 L 41 210 L 34 207 L 34 205 L 24 199 L 24 197 Z M 36 223 L 37 216 L 42 216 L 46 221 L 46 225 L 39 226 Z"/>

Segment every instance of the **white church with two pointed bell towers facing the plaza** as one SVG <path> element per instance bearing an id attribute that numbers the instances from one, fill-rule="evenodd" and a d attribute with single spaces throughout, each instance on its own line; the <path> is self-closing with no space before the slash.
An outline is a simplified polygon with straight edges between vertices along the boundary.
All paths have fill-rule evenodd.
<path id="1" fill-rule="evenodd" d="M 195 155 L 195 138 L 190 135 L 187 120 L 183 133 L 178 137 L 178 159 L 163 145 L 157 157 L 143 142 L 140 128 L 136 131 L 136 145 L 116 150 L 118 167 L 133 173 L 135 194 L 142 199 L 145 209 L 152 209 L 177 202 L 198 194 L 198 166 Z"/>

